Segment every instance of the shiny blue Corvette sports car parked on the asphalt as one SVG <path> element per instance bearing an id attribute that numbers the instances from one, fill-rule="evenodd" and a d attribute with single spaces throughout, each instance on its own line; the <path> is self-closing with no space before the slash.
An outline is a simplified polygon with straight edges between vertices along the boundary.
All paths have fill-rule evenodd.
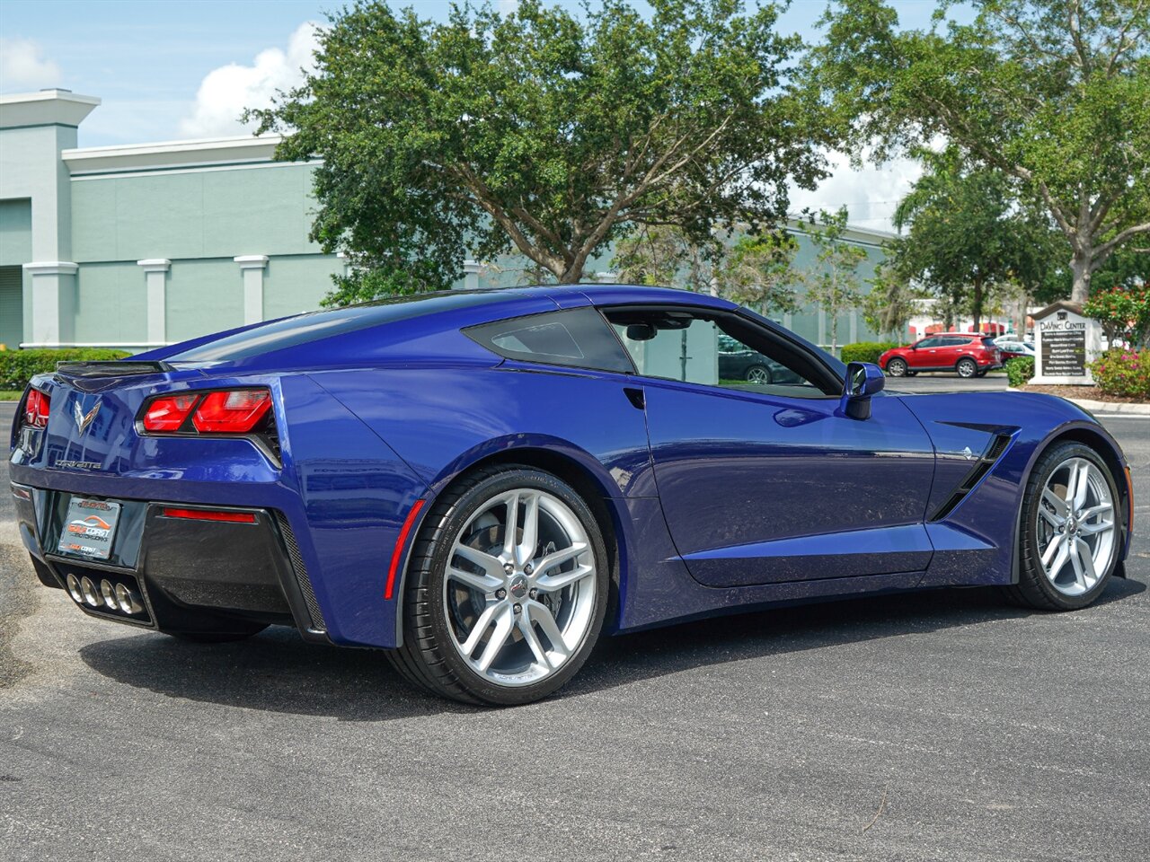
<path id="1" fill-rule="evenodd" d="M 727 379 L 722 355 L 785 374 Z M 374 302 L 34 378 L 12 491 L 39 579 L 191 641 L 293 625 L 465 702 L 604 633 L 1121 577 L 1129 469 L 1088 413 L 903 395 L 721 299 L 550 286 Z"/>

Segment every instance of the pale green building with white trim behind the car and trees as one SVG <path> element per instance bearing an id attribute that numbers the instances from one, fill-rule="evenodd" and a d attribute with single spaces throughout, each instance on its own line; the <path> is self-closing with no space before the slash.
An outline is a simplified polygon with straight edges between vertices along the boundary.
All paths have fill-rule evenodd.
<path id="1" fill-rule="evenodd" d="M 344 262 L 307 238 L 314 163 L 273 161 L 274 136 L 77 148 L 99 105 L 64 90 L 0 97 L 0 344 L 139 351 L 317 307 Z M 888 237 L 849 233 L 867 249 L 864 277 Z M 468 264 L 458 286 L 514 283 L 522 263 L 500 263 Z M 821 311 L 782 320 L 828 339 Z M 842 315 L 839 344 L 871 338 Z"/>

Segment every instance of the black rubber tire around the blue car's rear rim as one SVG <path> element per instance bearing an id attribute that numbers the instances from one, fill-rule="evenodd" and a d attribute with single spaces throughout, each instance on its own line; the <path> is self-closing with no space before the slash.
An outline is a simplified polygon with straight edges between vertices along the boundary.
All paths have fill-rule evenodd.
<path id="1" fill-rule="evenodd" d="M 546 491 L 580 519 L 596 563 L 595 607 L 582 644 L 550 676 L 537 683 L 503 686 L 473 670 L 452 642 L 440 599 L 455 536 L 493 495 L 516 487 Z M 412 548 L 404 588 L 404 645 L 388 659 L 408 680 L 463 703 L 518 706 L 553 694 L 583 665 L 603 629 L 610 593 L 606 542 L 586 502 L 557 476 L 532 467 L 506 464 L 476 470 L 444 491 L 428 513 Z"/>

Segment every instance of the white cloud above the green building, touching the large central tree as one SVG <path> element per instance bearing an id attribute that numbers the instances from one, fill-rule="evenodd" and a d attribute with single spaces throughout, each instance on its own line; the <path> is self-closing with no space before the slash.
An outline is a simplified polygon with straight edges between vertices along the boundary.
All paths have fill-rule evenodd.
<path id="1" fill-rule="evenodd" d="M 300 68 L 314 67 L 312 52 L 319 46 L 314 22 L 300 24 L 288 40 L 288 49 L 267 48 L 251 66 L 229 63 L 209 71 L 195 93 L 191 116 L 179 123 L 179 132 L 190 138 L 241 134 L 240 115 L 245 108 L 266 108 L 278 90 L 289 90 L 302 80 Z"/>

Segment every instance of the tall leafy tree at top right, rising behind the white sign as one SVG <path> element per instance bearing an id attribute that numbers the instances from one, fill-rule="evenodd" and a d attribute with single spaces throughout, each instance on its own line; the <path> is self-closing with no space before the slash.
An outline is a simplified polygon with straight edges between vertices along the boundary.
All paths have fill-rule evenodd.
<path id="1" fill-rule="evenodd" d="M 936 137 L 1017 179 L 1070 245 L 1072 298 L 1150 232 L 1150 3 L 975 0 L 974 21 L 897 29 L 882 0 L 837 0 L 808 70 L 884 157 Z M 1065 246 L 1064 246 L 1065 247 Z"/>

